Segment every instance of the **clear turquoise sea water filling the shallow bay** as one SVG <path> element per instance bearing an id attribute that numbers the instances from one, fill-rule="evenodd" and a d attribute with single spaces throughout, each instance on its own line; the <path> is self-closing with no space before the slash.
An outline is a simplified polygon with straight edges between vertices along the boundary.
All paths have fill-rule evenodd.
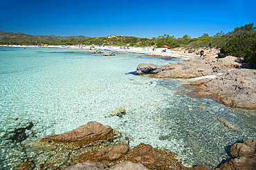
<path id="1" fill-rule="evenodd" d="M 145 143 L 169 149 L 188 167 L 217 167 L 229 158 L 231 144 L 256 137 L 255 111 L 176 95 L 181 84 L 175 79 L 134 73 L 140 63 L 164 66 L 180 59 L 68 53 L 72 50 L 0 47 L 0 169 L 12 169 L 35 154 L 24 151 L 25 143 L 92 120 L 132 138 L 131 147 Z M 126 115 L 108 117 L 120 106 Z"/>

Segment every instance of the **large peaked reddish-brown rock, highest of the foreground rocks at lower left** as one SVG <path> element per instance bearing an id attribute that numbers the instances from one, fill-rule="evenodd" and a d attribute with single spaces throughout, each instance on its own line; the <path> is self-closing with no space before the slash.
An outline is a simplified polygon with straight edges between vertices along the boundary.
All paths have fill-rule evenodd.
<path id="1" fill-rule="evenodd" d="M 96 140 L 104 140 L 113 135 L 111 126 L 104 126 L 98 122 L 88 122 L 73 131 L 68 131 L 60 135 L 53 135 L 43 138 L 41 142 L 68 142 L 78 146 L 89 144 Z"/>

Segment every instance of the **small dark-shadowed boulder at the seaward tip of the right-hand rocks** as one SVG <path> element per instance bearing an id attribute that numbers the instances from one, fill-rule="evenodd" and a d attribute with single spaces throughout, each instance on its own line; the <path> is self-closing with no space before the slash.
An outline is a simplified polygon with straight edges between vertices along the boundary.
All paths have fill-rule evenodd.
<path id="1" fill-rule="evenodd" d="M 156 74 L 160 73 L 163 70 L 161 66 L 157 66 L 154 64 L 138 64 L 138 67 L 136 69 L 137 75 L 145 75 L 145 74 Z"/>

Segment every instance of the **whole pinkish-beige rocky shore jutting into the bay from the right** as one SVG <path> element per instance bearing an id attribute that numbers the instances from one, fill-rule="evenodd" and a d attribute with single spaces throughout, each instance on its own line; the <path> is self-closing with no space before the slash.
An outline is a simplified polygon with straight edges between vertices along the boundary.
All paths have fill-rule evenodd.
<path id="1" fill-rule="evenodd" d="M 256 70 L 249 69 L 236 57 L 194 57 L 172 65 L 139 64 L 137 75 L 152 74 L 154 78 L 188 79 L 183 89 L 193 95 L 212 97 L 226 106 L 256 109 Z M 192 82 L 194 81 L 194 82 Z"/>

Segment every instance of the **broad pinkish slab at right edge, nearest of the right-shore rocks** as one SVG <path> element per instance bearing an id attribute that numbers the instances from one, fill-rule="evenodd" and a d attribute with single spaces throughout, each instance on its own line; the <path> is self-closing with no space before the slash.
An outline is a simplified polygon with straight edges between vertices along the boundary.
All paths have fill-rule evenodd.
<path id="1" fill-rule="evenodd" d="M 256 109 L 256 70 L 233 69 L 190 85 L 199 89 L 197 95 L 216 97 L 226 106 Z"/>

